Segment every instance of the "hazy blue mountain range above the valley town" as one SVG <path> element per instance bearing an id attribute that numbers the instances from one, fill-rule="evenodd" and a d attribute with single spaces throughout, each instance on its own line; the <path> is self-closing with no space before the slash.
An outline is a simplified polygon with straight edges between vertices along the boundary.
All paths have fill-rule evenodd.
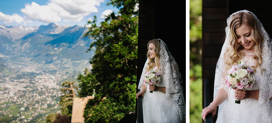
<path id="1" fill-rule="evenodd" d="M 89 60 L 86 53 L 92 42 L 82 38 L 87 29 L 81 26 L 5 26 L 0 25 L 0 55 L 2 58 L 28 57 L 44 64 L 62 64 L 63 58 Z M 5 57 L 3 57 L 5 56 Z"/>

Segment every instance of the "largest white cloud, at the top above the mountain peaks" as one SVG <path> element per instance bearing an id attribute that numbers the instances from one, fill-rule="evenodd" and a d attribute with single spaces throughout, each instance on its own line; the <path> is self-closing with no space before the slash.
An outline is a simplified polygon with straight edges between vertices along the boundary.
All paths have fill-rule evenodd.
<path id="1" fill-rule="evenodd" d="M 104 0 L 50 0 L 47 5 L 32 2 L 21 12 L 29 19 L 42 22 L 81 22 L 85 16 L 98 12 L 96 6 L 100 6 L 100 2 Z"/>

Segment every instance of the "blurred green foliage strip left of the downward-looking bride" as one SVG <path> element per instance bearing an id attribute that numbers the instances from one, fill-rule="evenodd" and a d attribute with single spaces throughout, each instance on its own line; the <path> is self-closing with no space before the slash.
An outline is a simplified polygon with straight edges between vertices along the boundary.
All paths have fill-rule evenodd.
<path id="1" fill-rule="evenodd" d="M 190 123 L 202 123 L 202 1 L 190 0 Z"/>

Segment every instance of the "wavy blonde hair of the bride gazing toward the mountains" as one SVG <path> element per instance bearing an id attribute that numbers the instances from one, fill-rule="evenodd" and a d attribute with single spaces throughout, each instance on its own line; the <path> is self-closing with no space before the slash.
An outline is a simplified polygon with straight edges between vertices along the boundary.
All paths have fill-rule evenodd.
<path id="1" fill-rule="evenodd" d="M 155 58 L 150 58 L 149 54 L 146 53 L 147 58 L 149 59 L 149 61 L 147 63 L 147 67 L 146 67 L 146 72 L 153 69 L 156 65 L 158 67 L 160 65 L 160 41 L 158 39 L 153 39 L 153 40 L 149 41 L 147 43 L 147 49 L 149 49 L 148 46 L 151 43 L 155 45 L 155 48 L 154 48 Z M 159 69 L 159 71 L 161 72 L 160 69 Z"/>

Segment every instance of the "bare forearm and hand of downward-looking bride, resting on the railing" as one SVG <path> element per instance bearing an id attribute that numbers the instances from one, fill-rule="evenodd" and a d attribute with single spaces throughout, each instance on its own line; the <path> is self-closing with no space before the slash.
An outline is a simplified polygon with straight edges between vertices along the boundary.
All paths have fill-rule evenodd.
<path id="1" fill-rule="evenodd" d="M 202 109 L 201 117 L 203 120 L 205 120 L 206 115 L 209 113 L 212 113 L 212 116 L 215 116 L 216 107 L 222 104 L 227 98 L 228 93 L 223 88 L 219 89 L 212 103 L 208 107 Z"/>

